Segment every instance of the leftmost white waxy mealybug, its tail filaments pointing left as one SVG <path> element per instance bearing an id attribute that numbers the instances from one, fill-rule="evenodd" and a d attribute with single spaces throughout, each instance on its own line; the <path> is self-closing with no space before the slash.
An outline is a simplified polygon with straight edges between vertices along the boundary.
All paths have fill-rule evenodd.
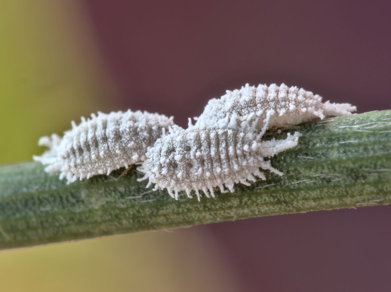
<path id="1" fill-rule="evenodd" d="M 81 120 L 79 125 L 72 122 L 63 138 L 56 134 L 41 137 L 38 144 L 49 149 L 34 156 L 47 165 L 47 172 L 60 171 L 60 179 L 68 183 L 143 161 L 163 129 L 174 125 L 172 117 L 130 110 L 92 114 L 91 119 Z"/>

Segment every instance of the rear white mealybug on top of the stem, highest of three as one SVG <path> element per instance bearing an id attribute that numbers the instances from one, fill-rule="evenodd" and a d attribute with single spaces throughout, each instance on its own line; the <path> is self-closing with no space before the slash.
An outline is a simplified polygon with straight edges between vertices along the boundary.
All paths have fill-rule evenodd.
<path id="1" fill-rule="evenodd" d="M 319 95 L 296 86 L 246 84 L 240 90 L 227 90 L 220 99 L 209 100 L 194 127 L 260 131 L 265 130 L 266 119 L 268 127 L 295 125 L 316 117 L 350 115 L 355 110 L 351 104 L 322 103 Z"/>

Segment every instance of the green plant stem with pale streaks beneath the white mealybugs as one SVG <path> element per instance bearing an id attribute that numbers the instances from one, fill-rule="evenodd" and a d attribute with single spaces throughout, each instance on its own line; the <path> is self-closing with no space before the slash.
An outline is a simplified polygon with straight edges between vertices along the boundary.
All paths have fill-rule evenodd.
<path id="1" fill-rule="evenodd" d="M 280 177 L 216 191 L 215 199 L 145 189 L 135 170 L 66 185 L 39 163 L 0 167 L 0 249 L 134 231 L 391 202 L 391 111 L 307 122 L 265 134 L 302 134 L 272 158 Z"/>

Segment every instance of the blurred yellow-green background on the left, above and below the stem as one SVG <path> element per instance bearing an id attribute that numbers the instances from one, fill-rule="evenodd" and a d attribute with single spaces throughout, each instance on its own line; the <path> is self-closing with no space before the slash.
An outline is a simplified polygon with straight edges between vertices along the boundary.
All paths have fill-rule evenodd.
<path id="1" fill-rule="evenodd" d="M 0 4 L 0 163 L 40 154 L 42 135 L 119 110 L 87 13 L 75 0 Z M 108 99 L 110 97 L 110 99 Z M 230 291 L 210 236 L 165 231 L 0 253 L 0 291 Z"/>

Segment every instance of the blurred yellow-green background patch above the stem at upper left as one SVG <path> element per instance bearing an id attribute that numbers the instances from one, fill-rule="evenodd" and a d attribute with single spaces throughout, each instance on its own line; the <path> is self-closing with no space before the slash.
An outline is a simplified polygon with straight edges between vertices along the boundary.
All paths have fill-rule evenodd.
<path id="1" fill-rule="evenodd" d="M 82 12 L 76 1 L 1 2 L 0 162 L 30 160 L 39 136 L 107 109 L 113 86 Z"/>

